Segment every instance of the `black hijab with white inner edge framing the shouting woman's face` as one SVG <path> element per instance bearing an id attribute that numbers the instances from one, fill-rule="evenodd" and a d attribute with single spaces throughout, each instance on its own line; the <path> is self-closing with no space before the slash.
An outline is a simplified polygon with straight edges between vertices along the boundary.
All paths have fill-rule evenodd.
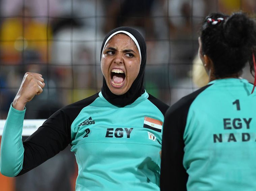
<path id="1" fill-rule="evenodd" d="M 101 90 L 102 95 L 108 102 L 110 102 L 111 104 L 113 104 L 117 107 L 124 107 L 126 105 L 133 103 L 138 97 L 140 97 L 145 92 L 143 83 L 144 83 L 144 71 L 145 71 L 145 66 L 146 66 L 146 43 L 145 43 L 144 38 L 141 36 L 141 34 L 138 31 L 136 31 L 135 29 L 130 28 L 130 27 L 119 27 L 119 28 L 116 28 L 116 29 L 112 30 L 111 32 L 109 32 L 102 43 L 101 57 L 102 57 L 102 51 L 105 48 L 104 46 L 105 46 L 108 38 L 113 33 L 116 33 L 116 32 L 123 33 L 122 31 L 126 31 L 126 32 L 132 34 L 135 37 L 135 39 L 137 40 L 137 42 L 139 44 L 138 48 L 140 48 L 140 52 L 141 52 L 141 64 L 140 64 L 140 71 L 139 71 L 137 78 L 134 80 L 131 88 L 123 95 L 113 94 L 109 90 L 106 80 L 103 77 L 103 87 Z M 127 35 L 130 36 L 129 34 L 127 34 Z"/>

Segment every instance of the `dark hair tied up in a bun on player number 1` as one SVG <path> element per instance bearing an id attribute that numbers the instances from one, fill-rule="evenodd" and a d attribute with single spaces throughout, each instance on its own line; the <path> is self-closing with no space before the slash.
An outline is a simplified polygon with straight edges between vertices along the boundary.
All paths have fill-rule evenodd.
<path id="1" fill-rule="evenodd" d="M 252 53 L 256 55 L 256 24 L 246 14 L 233 13 L 228 16 L 211 13 L 203 22 L 201 42 L 202 53 L 208 55 L 214 63 L 215 77 L 238 75 L 248 61 L 251 71 L 253 70 Z"/>

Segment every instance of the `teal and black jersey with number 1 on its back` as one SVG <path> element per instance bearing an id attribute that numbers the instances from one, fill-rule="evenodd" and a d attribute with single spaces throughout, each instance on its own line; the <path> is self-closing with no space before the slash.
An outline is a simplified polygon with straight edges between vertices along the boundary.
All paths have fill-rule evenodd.
<path id="1" fill-rule="evenodd" d="M 256 189 L 256 93 L 221 79 L 182 98 L 165 115 L 161 190 Z"/>

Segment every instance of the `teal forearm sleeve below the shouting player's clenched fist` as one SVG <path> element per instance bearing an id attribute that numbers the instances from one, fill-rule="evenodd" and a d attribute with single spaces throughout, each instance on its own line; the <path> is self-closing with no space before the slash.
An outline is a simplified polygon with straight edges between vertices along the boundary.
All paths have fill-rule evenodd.
<path id="1" fill-rule="evenodd" d="M 0 150 L 0 172 L 7 177 L 15 177 L 22 170 L 24 147 L 21 134 L 25 111 L 26 108 L 19 111 L 11 105 L 4 125 Z"/>

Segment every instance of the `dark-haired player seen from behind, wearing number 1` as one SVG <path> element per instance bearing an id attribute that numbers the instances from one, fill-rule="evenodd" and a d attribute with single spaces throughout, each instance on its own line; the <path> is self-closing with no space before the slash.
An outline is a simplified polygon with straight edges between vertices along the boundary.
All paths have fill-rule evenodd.
<path id="1" fill-rule="evenodd" d="M 166 112 L 161 191 L 255 190 L 256 92 L 241 78 L 247 62 L 256 67 L 255 46 L 255 21 L 245 14 L 204 20 L 199 56 L 209 83 Z"/>

